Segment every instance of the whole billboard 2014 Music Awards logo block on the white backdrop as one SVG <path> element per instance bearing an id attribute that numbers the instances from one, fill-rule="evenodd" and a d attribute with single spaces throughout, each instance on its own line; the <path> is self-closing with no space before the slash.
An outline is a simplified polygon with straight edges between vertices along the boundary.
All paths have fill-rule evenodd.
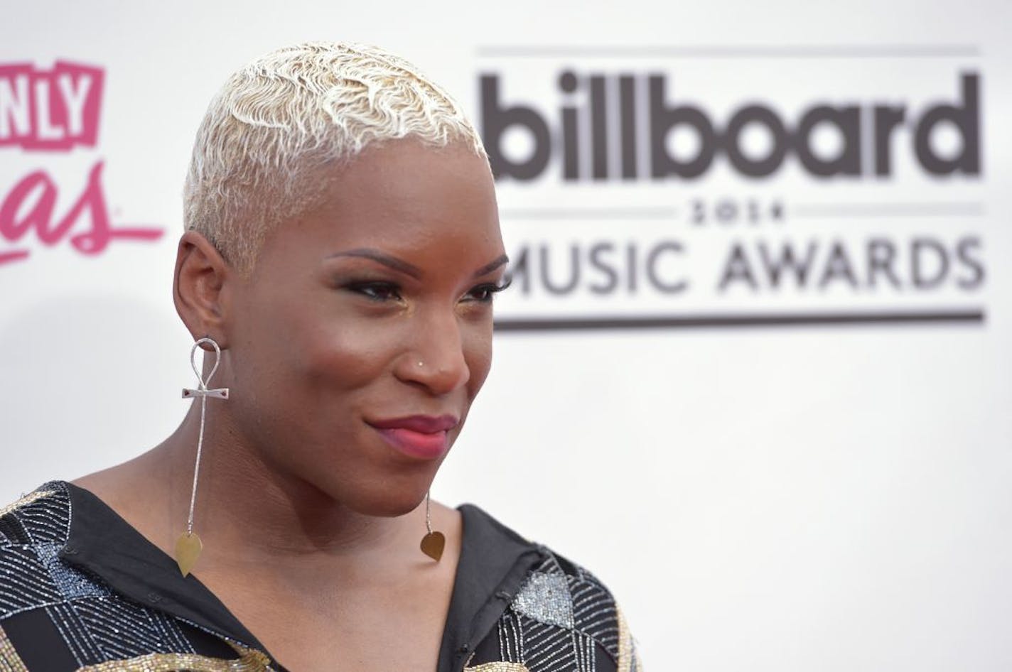
<path id="1" fill-rule="evenodd" d="M 911 77 L 893 50 L 843 47 L 482 54 L 516 287 L 497 329 L 985 322 L 979 68 L 940 76 L 932 56 Z M 729 76 L 757 54 L 776 67 Z M 869 57 L 887 59 L 870 77 Z"/>

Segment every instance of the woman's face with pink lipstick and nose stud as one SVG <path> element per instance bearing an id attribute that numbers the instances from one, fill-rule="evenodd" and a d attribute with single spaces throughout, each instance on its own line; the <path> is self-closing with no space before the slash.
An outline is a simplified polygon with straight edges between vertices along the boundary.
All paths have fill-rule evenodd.
<path id="1" fill-rule="evenodd" d="M 492 358 L 506 257 L 470 148 L 363 152 L 230 297 L 228 402 L 268 467 L 361 513 L 421 501 Z"/>

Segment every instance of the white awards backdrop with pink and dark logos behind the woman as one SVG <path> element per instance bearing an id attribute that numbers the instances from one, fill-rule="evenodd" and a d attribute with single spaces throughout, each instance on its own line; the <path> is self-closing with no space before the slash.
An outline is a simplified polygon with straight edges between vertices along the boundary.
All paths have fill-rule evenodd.
<path id="1" fill-rule="evenodd" d="M 1012 7 L 697 5 L 7 3 L 0 499 L 185 412 L 226 77 L 372 43 L 480 128 L 511 258 L 434 497 L 599 575 L 649 669 L 1012 668 Z"/>

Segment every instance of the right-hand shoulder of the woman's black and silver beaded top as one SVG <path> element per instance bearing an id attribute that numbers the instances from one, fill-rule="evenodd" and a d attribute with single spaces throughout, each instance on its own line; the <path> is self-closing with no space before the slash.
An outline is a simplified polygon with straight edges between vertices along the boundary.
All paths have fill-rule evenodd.
<path id="1" fill-rule="evenodd" d="M 459 509 L 468 545 L 475 536 L 484 542 L 479 551 L 466 547 L 466 553 L 481 557 L 488 567 L 505 552 L 514 568 L 522 568 L 514 569 L 512 585 L 503 582 L 505 608 L 469 667 L 505 662 L 525 666 L 518 670 L 555 670 L 562 668 L 553 665 L 571 660 L 578 665 L 574 669 L 642 669 L 618 600 L 595 574 L 549 545 L 526 539 L 477 506 Z M 461 557 L 461 562 L 467 560 Z"/>

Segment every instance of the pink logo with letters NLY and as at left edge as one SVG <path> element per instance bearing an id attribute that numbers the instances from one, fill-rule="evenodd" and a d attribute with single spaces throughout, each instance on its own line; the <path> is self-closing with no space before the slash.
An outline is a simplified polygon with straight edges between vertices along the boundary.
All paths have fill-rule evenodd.
<path id="1" fill-rule="evenodd" d="M 0 150 L 71 152 L 98 143 L 104 72 L 101 68 L 57 62 L 52 70 L 0 65 Z M 57 212 L 60 182 L 36 169 L 0 191 L 0 264 L 26 259 L 26 237 L 46 246 L 69 241 L 86 255 L 103 252 L 113 240 L 153 241 L 161 228 L 117 226 L 111 221 L 102 186 L 104 161 L 94 162 L 76 183 L 78 197 Z"/>

